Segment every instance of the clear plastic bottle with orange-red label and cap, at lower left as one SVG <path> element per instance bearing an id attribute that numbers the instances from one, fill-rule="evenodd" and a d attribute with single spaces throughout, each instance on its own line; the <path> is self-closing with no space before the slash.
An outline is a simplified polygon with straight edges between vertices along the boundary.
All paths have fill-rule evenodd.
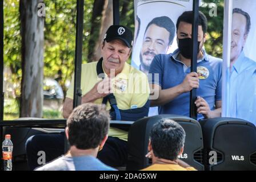
<path id="1" fill-rule="evenodd" d="M 13 169 L 13 164 L 11 163 L 11 158 L 13 157 L 13 142 L 11 142 L 11 135 L 5 135 L 5 140 L 2 144 L 3 150 L 3 170 L 11 171 Z"/>

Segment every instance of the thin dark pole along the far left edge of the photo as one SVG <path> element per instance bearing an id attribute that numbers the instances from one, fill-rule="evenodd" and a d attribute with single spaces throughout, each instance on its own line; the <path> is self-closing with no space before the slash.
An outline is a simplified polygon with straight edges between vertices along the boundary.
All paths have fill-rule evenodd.
<path id="1" fill-rule="evenodd" d="M 0 120 L 3 120 L 3 99 L 3 1 L 0 1 Z"/>

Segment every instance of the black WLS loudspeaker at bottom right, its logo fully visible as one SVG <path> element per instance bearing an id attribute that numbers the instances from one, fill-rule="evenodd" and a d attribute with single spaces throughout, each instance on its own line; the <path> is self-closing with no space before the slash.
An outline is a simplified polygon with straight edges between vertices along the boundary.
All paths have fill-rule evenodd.
<path id="1" fill-rule="evenodd" d="M 206 170 L 256 170 L 256 127 L 237 118 L 202 121 Z M 214 162 L 213 153 L 217 160 Z"/>

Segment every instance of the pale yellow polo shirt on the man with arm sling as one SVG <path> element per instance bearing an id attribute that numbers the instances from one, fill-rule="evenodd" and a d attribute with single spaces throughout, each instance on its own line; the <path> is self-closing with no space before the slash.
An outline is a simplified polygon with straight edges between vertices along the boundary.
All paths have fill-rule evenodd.
<path id="1" fill-rule="evenodd" d="M 93 89 L 97 82 L 101 81 L 97 75 L 97 62 L 82 64 L 81 72 L 81 89 L 82 96 Z M 105 77 L 106 74 L 105 74 Z M 150 89 L 149 82 L 145 73 L 138 71 L 131 67 L 131 65 L 125 63 L 123 70 L 112 80 L 112 89 L 115 99 L 117 100 L 117 106 L 119 109 L 134 109 L 142 107 L 149 99 Z M 66 97 L 73 99 L 74 94 L 74 75 L 72 77 L 71 85 L 67 90 Z M 95 100 L 95 104 L 102 104 L 103 98 Z M 109 101 L 106 104 L 107 109 L 111 109 Z M 139 119 L 139 118 L 138 118 Z M 109 130 L 110 137 L 118 137 L 127 141 L 127 132 L 115 128 Z"/>

